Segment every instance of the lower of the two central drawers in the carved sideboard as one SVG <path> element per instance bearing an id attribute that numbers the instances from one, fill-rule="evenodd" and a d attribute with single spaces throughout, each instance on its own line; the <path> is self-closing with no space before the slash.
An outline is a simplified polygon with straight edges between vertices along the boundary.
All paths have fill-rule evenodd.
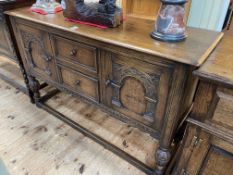
<path id="1" fill-rule="evenodd" d="M 68 90 L 94 101 L 99 101 L 99 81 L 96 78 L 58 66 L 60 83 Z"/>

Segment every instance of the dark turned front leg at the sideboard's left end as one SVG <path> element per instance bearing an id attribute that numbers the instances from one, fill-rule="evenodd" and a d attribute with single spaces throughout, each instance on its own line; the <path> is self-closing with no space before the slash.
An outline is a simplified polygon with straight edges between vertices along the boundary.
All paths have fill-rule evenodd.
<path id="1" fill-rule="evenodd" d="M 30 87 L 30 90 L 33 92 L 33 99 L 35 103 L 37 103 L 40 100 L 39 81 L 35 77 L 29 76 L 29 87 Z"/>

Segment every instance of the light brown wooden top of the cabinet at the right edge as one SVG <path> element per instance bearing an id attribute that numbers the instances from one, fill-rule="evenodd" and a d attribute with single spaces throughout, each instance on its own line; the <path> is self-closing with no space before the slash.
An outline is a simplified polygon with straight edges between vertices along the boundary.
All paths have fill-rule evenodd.
<path id="1" fill-rule="evenodd" d="M 233 35 L 223 40 L 195 74 L 201 78 L 233 86 Z"/>

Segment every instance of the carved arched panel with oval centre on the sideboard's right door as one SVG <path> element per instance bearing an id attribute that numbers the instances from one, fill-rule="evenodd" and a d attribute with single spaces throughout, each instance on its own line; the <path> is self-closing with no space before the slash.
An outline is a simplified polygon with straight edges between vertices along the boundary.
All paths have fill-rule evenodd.
<path id="1" fill-rule="evenodd" d="M 112 63 L 112 105 L 154 121 L 160 76 L 128 65 Z"/>

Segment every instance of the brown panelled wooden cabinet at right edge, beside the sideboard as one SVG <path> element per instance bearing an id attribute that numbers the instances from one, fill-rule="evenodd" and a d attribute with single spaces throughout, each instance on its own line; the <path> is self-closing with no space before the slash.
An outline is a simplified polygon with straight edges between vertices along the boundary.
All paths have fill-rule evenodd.
<path id="1" fill-rule="evenodd" d="M 200 78 L 172 175 L 233 174 L 233 37 L 226 34 Z"/>

